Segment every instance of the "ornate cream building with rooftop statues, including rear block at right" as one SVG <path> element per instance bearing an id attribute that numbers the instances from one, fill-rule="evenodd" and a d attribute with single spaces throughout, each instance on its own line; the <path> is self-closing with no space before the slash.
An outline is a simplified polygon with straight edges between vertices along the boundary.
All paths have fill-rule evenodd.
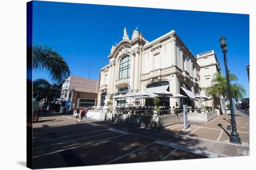
<path id="1" fill-rule="evenodd" d="M 165 106 L 195 107 L 199 104 L 195 96 L 204 94 L 212 76 L 220 71 L 214 50 L 195 58 L 174 30 L 148 42 L 137 30 L 129 39 L 125 28 L 122 40 L 112 46 L 108 59 L 109 64 L 101 69 L 97 106 L 107 106 L 108 101 L 113 107 L 145 106 L 152 99 L 116 100 L 114 96 L 142 90 L 150 93 L 168 90 L 188 98 L 168 98 Z"/>

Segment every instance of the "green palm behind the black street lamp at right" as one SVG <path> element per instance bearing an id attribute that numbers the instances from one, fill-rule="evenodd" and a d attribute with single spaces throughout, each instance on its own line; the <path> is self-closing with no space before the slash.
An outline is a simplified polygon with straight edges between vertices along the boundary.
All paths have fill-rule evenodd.
<path id="1" fill-rule="evenodd" d="M 238 83 L 232 83 L 236 82 L 238 80 L 237 76 L 234 74 L 229 75 L 230 80 L 230 87 L 231 87 L 231 96 L 236 101 L 239 101 L 243 99 L 244 95 L 246 94 L 245 88 Z M 214 78 L 212 79 L 212 85 L 206 89 L 206 94 L 213 96 L 213 97 L 223 97 L 224 102 L 224 111 L 226 112 L 226 99 L 229 99 L 228 95 L 228 85 L 227 85 L 227 79 L 225 76 L 223 76 L 221 73 L 216 73 L 214 75 Z M 221 105 L 220 105 L 221 106 Z M 222 110 L 222 109 L 221 109 Z"/>

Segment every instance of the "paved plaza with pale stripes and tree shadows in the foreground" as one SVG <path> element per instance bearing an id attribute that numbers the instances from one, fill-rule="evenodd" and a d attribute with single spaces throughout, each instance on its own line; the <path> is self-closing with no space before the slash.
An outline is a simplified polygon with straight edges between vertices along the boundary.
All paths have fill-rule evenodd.
<path id="1" fill-rule="evenodd" d="M 145 129 L 53 114 L 33 124 L 33 167 L 54 168 L 249 155 L 249 117 L 236 112 L 242 145 L 229 143 L 230 115 Z"/>

